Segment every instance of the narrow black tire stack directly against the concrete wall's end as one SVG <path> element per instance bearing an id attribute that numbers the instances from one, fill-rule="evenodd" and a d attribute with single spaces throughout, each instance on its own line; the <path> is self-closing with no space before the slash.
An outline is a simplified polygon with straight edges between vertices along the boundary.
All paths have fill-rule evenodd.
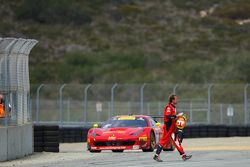
<path id="1" fill-rule="evenodd" d="M 43 152 L 43 126 L 34 126 L 34 152 Z"/>

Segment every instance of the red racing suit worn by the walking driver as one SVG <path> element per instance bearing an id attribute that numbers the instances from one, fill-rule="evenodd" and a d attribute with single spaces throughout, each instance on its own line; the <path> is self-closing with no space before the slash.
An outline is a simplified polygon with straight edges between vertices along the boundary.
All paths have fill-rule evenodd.
<path id="1" fill-rule="evenodd" d="M 164 109 L 164 127 L 163 127 L 163 136 L 161 140 L 159 141 L 159 144 L 164 147 L 170 140 L 173 142 L 179 153 L 182 155 L 184 154 L 184 150 L 181 146 L 181 143 L 179 142 L 179 145 L 175 143 L 175 141 L 172 139 L 171 135 L 175 133 L 176 131 L 176 124 L 175 124 L 175 118 L 176 118 L 176 107 L 174 104 L 169 103 L 166 105 Z"/>

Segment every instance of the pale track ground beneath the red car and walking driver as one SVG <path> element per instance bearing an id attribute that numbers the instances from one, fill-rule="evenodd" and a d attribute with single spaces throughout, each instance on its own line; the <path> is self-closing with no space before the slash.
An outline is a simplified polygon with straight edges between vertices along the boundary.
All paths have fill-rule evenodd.
<path id="1" fill-rule="evenodd" d="M 177 151 L 162 152 L 164 162 L 155 162 L 153 152 L 126 150 L 123 153 L 89 153 L 86 143 L 61 144 L 60 153 L 35 153 L 26 158 L 2 162 L 0 166 L 77 167 L 77 166 L 218 166 L 249 167 L 250 137 L 185 139 L 183 146 L 192 159 L 182 161 Z"/>

